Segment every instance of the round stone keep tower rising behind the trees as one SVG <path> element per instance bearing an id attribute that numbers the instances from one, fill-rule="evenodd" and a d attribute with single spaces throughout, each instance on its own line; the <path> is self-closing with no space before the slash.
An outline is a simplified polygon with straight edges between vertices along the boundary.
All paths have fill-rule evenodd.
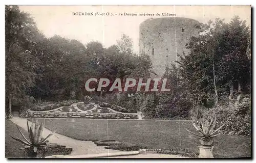
<path id="1" fill-rule="evenodd" d="M 188 52 L 186 43 L 191 36 L 199 36 L 199 29 L 197 20 L 181 17 L 151 18 L 140 24 L 140 52 L 151 57 L 157 77 L 179 60 L 183 51 Z"/>

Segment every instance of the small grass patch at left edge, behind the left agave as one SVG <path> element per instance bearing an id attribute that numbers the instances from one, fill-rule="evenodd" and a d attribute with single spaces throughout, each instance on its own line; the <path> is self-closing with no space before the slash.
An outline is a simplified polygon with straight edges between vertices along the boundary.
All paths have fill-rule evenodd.
<path id="1" fill-rule="evenodd" d="M 28 138 L 28 132 L 25 131 L 23 128 L 20 127 L 20 130 L 25 135 L 26 138 Z M 16 136 L 18 138 L 22 138 L 22 135 L 20 135 L 16 125 L 10 121 L 5 120 L 5 157 L 6 158 L 23 158 L 24 157 L 24 151 L 23 150 L 16 150 L 19 148 L 24 148 L 24 146 L 13 140 L 10 135 L 13 137 Z"/>

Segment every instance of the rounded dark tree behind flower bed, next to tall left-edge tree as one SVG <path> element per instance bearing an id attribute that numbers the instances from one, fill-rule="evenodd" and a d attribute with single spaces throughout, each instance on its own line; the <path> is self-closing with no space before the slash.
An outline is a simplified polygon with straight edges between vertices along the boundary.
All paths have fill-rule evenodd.
<path id="1" fill-rule="evenodd" d="M 40 78 L 33 92 L 35 97 L 69 98 L 70 95 L 75 98 L 76 93 L 81 94 L 82 78 L 91 70 L 91 59 L 81 42 L 54 36 L 40 42 L 37 53 L 41 54 L 41 62 L 37 71 Z"/>

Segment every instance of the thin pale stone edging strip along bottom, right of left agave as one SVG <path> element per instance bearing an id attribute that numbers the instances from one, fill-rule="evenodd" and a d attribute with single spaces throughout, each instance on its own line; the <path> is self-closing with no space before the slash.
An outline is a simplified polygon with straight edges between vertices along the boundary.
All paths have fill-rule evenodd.
<path id="1" fill-rule="evenodd" d="M 129 152 L 116 152 L 116 153 L 100 153 L 100 154 L 85 154 L 85 155 L 52 155 L 45 158 L 100 158 L 100 157 L 114 157 L 114 156 L 127 156 L 127 155 L 137 155 L 139 151 L 129 151 Z"/>

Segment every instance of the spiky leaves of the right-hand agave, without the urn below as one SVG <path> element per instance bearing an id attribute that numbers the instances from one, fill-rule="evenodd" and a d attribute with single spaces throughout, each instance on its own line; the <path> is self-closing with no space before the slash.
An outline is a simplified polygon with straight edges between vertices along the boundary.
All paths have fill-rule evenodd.
<path id="1" fill-rule="evenodd" d="M 210 122 L 209 122 L 210 120 Z M 186 129 L 188 132 L 200 137 L 198 138 L 198 140 L 200 140 L 200 143 L 202 146 L 211 146 L 214 141 L 212 138 L 217 137 L 219 134 L 221 134 L 224 130 L 219 131 L 225 124 L 223 123 L 219 128 L 216 128 L 216 117 L 215 119 L 212 117 L 207 117 L 207 119 L 205 119 L 204 117 L 199 119 L 199 124 L 198 126 L 193 122 L 193 126 L 196 128 L 196 130 L 199 133 L 194 133 L 192 131 L 189 131 L 188 129 Z M 219 131 L 219 132 L 218 132 Z"/>

